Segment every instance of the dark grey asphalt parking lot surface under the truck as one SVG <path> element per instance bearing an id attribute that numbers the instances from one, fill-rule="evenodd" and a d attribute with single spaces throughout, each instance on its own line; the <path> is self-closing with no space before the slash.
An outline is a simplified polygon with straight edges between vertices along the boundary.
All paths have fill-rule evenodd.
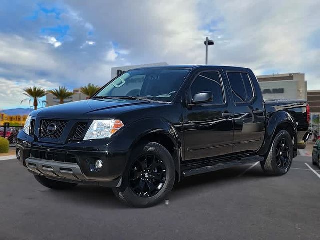
<path id="1" fill-rule="evenodd" d="M 243 165 L 185 178 L 169 205 L 134 209 L 111 189 L 47 189 L 16 160 L 3 160 L 0 239 L 320 239 L 316 173 L 303 156 L 281 177 Z"/>

